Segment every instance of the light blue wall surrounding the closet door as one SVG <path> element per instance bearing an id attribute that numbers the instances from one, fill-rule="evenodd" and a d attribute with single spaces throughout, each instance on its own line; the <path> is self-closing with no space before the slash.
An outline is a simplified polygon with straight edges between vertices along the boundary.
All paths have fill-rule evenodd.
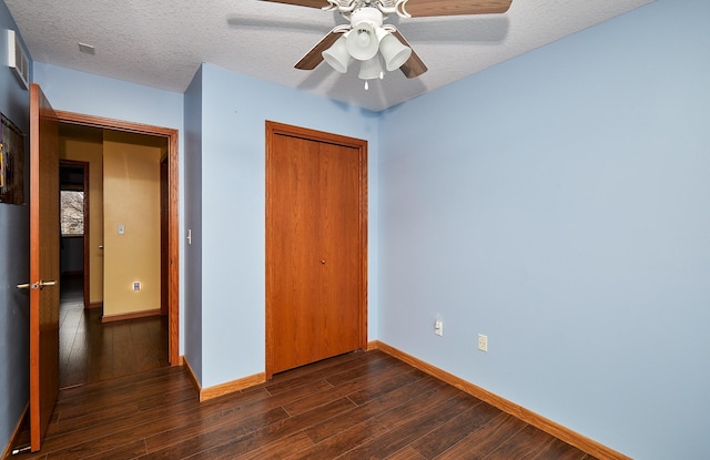
<path id="1" fill-rule="evenodd" d="M 264 371 L 265 121 L 368 141 L 373 258 L 378 117 L 209 64 L 202 68 L 202 384 L 211 387 Z M 371 339 L 376 292 L 371 270 Z"/>

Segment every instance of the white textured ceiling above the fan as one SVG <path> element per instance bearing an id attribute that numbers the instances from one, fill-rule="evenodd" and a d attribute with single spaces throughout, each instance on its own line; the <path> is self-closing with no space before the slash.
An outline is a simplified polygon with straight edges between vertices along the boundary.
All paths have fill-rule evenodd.
<path id="1" fill-rule="evenodd" d="M 293 68 L 346 22 L 333 12 L 260 0 L 4 0 L 36 61 L 175 92 L 209 62 L 374 111 L 650 1 L 513 0 L 506 14 L 389 18 L 429 71 L 410 80 L 389 72 L 365 91 L 356 67 Z"/>

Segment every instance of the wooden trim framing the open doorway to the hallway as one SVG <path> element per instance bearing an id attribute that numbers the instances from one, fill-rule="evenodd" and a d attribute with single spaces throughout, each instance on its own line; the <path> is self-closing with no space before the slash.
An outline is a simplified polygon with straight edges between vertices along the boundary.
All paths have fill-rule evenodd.
<path id="1" fill-rule="evenodd" d="M 55 111 L 60 123 L 122 131 L 133 134 L 146 134 L 168 140 L 168 359 L 172 366 L 181 365 L 180 360 L 180 224 L 179 224 L 179 165 L 178 134 L 171 127 L 126 122 L 81 113 Z"/>

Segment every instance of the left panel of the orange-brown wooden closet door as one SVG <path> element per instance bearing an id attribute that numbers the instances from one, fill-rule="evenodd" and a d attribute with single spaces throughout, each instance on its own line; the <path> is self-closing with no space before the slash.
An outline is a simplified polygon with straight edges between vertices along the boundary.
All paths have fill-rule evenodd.
<path id="1" fill-rule="evenodd" d="M 273 267 L 268 276 L 274 372 L 316 360 L 318 341 L 318 145 L 277 135 L 271 159 L 268 200 Z"/>

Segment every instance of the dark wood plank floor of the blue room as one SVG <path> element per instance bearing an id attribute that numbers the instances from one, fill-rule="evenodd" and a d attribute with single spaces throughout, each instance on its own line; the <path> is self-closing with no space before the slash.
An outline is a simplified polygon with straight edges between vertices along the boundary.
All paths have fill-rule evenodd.
<path id="1" fill-rule="evenodd" d="M 42 450 L 17 458 L 592 459 L 382 351 L 202 403 L 180 367 L 64 389 Z"/>

